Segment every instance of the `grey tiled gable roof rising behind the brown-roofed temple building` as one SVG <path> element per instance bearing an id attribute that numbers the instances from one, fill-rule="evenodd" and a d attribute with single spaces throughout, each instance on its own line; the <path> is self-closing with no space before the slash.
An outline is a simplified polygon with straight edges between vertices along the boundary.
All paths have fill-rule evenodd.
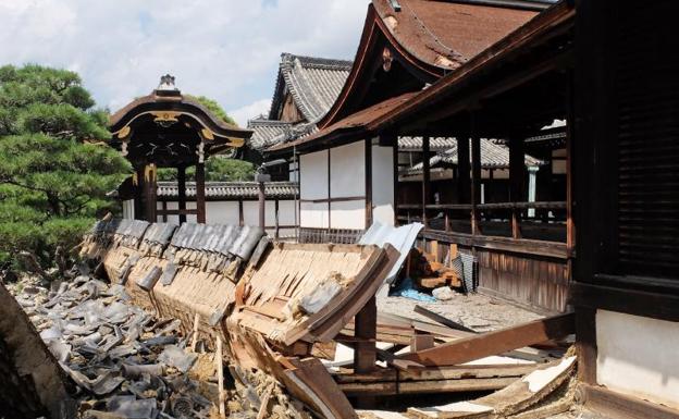
<path id="1" fill-rule="evenodd" d="M 269 119 L 279 118 L 289 91 L 307 122 L 316 122 L 334 103 L 351 70 L 351 61 L 283 53 Z"/>

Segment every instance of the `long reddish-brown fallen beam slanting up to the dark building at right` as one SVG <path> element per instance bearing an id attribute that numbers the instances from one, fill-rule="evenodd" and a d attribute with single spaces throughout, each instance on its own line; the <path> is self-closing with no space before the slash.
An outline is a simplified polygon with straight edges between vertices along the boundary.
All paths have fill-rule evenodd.
<path id="1" fill-rule="evenodd" d="M 566 313 L 448 342 L 431 349 L 405 354 L 399 358 L 424 366 L 454 366 L 563 338 L 575 332 L 575 315 Z"/>

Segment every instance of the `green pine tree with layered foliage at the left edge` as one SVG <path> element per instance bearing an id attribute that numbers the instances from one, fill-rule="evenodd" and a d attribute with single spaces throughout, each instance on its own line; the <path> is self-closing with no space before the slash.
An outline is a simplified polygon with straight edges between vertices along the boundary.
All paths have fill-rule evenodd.
<path id="1" fill-rule="evenodd" d="M 39 65 L 0 67 L 0 263 L 21 250 L 50 264 L 131 172 L 102 140 L 107 115 L 76 73 Z"/>

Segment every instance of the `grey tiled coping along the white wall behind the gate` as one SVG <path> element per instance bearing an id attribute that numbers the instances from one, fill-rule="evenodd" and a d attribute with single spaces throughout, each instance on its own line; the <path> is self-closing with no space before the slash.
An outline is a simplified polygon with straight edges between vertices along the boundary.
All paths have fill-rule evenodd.
<path id="1" fill-rule="evenodd" d="M 297 184 L 295 182 L 269 182 L 264 184 L 267 198 L 293 199 L 297 195 Z M 257 182 L 206 182 L 206 198 L 208 199 L 252 199 L 259 194 Z M 158 182 L 159 198 L 178 197 L 176 182 Z M 186 197 L 196 197 L 196 183 L 186 183 Z"/>

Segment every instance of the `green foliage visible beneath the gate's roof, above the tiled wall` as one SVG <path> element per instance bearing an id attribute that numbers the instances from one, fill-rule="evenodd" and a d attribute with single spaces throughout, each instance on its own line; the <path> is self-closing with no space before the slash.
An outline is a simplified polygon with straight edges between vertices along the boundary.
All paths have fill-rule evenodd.
<path id="1" fill-rule="evenodd" d="M 186 170 L 186 180 L 196 178 L 196 168 Z M 176 181 L 176 170 L 159 169 L 159 181 Z M 235 182 L 255 180 L 255 165 L 249 161 L 229 159 L 222 156 L 212 156 L 206 161 L 206 181 Z"/>

